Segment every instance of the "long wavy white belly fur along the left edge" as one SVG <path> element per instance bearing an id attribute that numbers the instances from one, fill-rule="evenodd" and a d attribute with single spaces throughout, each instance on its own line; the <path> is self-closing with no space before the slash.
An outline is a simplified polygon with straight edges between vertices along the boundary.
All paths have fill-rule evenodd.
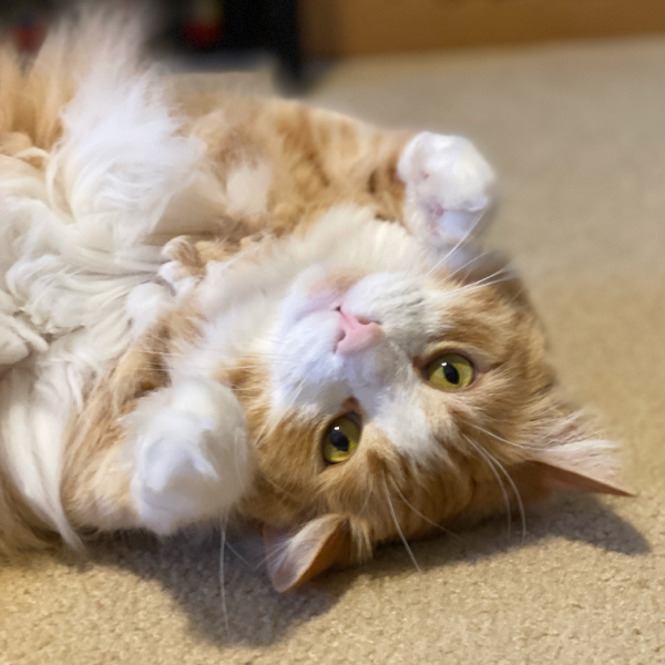
<path id="1" fill-rule="evenodd" d="M 0 157 L 1 463 L 44 523 L 70 542 L 60 502 L 62 437 L 83 392 L 126 349 L 125 300 L 154 278 L 137 243 L 191 181 L 198 144 L 152 74 L 100 52 L 65 109 L 43 172 Z M 141 324 L 145 326 L 145 321 Z"/>

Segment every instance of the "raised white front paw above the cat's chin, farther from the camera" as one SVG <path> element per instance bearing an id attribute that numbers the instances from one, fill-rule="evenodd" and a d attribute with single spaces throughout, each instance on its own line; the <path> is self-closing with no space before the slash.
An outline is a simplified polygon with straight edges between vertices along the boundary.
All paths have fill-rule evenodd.
<path id="1" fill-rule="evenodd" d="M 405 219 L 413 233 L 450 245 L 480 231 L 495 178 L 470 141 L 422 132 L 405 147 L 398 174 L 406 186 Z"/>

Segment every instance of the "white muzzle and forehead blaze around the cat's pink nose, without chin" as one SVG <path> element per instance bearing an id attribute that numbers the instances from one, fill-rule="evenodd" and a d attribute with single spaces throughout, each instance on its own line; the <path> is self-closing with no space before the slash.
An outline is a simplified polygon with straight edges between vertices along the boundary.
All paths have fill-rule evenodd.
<path id="1" fill-rule="evenodd" d="M 422 274 L 407 272 L 399 263 L 399 269 L 390 270 L 390 263 L 386 256 L 382 270 L 360 277 L 349 270 L 345 283 L 344 270 L 330 260 L 295 282 L 275 328 L 273 408 L 276 413 L 297 409 L 326 419 L 355 398 L 366 422 L 401 453 L 426 463 L 439 447 L 420 401 L 422 386 L 413 359 L 441 329 L 440 309 Z M 338 352 L 338 307 L 378 323 L 381 335 L 357 352 Z"/>

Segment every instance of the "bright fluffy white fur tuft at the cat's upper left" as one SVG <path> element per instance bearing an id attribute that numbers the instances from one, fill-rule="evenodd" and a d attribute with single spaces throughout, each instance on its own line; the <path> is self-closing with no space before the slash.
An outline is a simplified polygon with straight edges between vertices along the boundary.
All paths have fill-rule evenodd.
<path id="1" fill-rule="evenodd" d="M 62 120 L 48 183 L 64 198 L 84 242 L 132 247 L 153 232 L 173 193 L 188 185 L 203 145 L 180 124 L 150 72 L 127 75 L 111 53 L 95 57 Z"/>

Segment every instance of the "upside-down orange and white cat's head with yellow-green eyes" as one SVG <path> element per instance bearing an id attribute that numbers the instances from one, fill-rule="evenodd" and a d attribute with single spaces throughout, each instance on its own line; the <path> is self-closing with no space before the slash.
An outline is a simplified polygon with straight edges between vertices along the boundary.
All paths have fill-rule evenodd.
<path id="1" fill-rule="evenodd" d="M 264 349 L 236 372 L 275 586 L 376 543 L 513 511 L 556 489 L 623 493 L 612 446 L 556 393 L 539 321 L 492 255 L 434 254 L 330 213 Z"/>

